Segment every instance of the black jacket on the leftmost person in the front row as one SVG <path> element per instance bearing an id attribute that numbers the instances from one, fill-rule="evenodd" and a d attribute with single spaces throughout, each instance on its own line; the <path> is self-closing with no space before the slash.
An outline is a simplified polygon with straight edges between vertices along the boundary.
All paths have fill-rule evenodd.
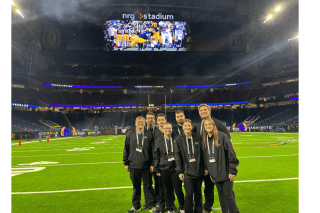
<path id="1" fill-rule="evenodd" d="M 152 147 L 154 146 L 152 134 L 144 130 L 142 152 L 136 151 L 136 130 L 129 131 L 124 141 L 123 163 L 132 169 L 148 169 L 153 165 Z"/>

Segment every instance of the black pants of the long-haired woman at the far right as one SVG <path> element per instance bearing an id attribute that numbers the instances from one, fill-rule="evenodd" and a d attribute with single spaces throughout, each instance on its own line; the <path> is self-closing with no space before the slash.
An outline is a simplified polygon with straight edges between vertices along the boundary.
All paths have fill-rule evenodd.
<path id="1" fill-rule="evenodd" d="M 233 182 L 230 180 L 224 182 L 216 183 L 218 194 L 219 194 L 219 201 L 222 213 L 236 213 L 239 212 L 235 199 L 233 188 Z"/>

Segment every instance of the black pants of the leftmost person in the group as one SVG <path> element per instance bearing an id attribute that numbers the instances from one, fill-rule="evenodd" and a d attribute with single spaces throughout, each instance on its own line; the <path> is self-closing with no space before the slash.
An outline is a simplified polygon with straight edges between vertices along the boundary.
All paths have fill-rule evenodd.
<path id="1" fill-rule="evenodd" d="M 132 205 L 135 209 L 140 209 L 141 207 L 141 179 L 148 204 L 150 207 L 155 207 L 157 204 L 152 185 L 149 184 L 150 175 L 149 169 L 130 169 L 130 179 L 133 184 Z"/>

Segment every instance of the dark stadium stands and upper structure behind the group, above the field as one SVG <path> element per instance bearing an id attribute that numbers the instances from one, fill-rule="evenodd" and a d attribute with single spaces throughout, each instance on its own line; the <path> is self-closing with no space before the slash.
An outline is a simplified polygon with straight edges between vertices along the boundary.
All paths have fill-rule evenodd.
<path id="1" fill-rule="evenodd" d="M 251 127 L 246 131 L 274 131 L 278 126 L 298 130 L 295 1 L 287 1 L 265 21 L 257 8 L 276 1 L 257 1 L 249 8 L 247 1 L 196 1 L 199 12 L 193 13 L 184 1 L 172 2 L 171 9 L 169 3 L 156 1 L 148 6 L 149 13 L 164 8 L 179 13 L 191 31 L 189 51 L 159 53 L 104 51 L 101 26 L 119 12 L 113 10 L 114 1 L 91 6 L 80 1 L 77 9 L 86 9 L 88 18 L 72 13 L 70 19 L 61 8 L 46 11 L 54 6 L 41 1 L 14 2 L 12 132 L 98 127 L 105 134 L 115 126 L 134 128 L 134 118 L 148 111 L 165 112 L 175 123 L 176 109 L 198 122 L 200 103 L 213 104 L 212 114 L 230 131 L 242 124 Z M 121 9 L 145 11 L 146 2 L 133 6 L 121 1 Z M 232 33 L 242 39 L 241 46 L 231 45 Z M 76 34 L 82 37 L 70 37 Z"/>

